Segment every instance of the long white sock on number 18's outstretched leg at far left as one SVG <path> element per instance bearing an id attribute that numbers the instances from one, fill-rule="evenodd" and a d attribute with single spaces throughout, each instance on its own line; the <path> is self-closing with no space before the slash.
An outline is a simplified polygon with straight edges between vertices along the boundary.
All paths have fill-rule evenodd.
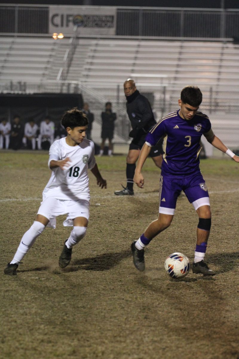
<path id="1" fill-rule="evenodd" d="M 10 264 L 19 263 L 23 259 L 25 254 L 33 246 L 35 240 L 43 232 L 44 229 L 45 229 L 44 224 L 38 221 L 33 222 L 32 227 L 30 227 L 21 238 L 21 242 Z"/>

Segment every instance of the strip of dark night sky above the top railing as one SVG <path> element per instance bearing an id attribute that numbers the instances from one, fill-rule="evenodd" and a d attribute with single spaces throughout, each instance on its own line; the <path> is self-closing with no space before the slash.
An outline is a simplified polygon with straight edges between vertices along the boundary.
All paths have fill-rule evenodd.
<path id="1" fill-rule="evenodd" d="M 239 0 L 0 0 L 0 4 L 46 4 L 46 5 L 102 5 L 102 6 L 157 6 L 175 8 L 221 8 L 239 9 Z"/>

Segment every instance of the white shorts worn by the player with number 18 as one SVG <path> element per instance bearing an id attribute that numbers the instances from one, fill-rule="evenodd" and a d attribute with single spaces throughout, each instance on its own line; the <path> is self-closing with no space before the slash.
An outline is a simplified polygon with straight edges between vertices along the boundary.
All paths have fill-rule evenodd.
<path id="1" fill-rule="evenodd" d="M 90 216 L 90 202 L 87 200 L 58 200 L 54 197 L 47 197 L 41 203 L 38 213 L 49 219 L 47 227 L 56 228 L 56 217 L 67 214 L 63 222 L 64 227 L 72 227 L 73 219 L 76 217 L 85 217 L 87 220 Z"/>

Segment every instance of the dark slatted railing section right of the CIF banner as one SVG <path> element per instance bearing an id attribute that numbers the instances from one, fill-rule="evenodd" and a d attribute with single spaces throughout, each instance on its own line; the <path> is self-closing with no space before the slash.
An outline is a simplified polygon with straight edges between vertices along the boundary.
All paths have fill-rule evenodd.
<path id="1" fill-rule="evenodd" d="M 141 37 L 231 38 L 239 11 L 193 9 L 118 9 L 117 35 Z"/>

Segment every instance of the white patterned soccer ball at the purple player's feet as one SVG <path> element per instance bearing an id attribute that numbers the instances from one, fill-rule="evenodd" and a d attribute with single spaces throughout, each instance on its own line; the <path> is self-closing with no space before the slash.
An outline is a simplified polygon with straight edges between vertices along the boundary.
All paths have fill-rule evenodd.
<path id="1" fill-rule="evenodd" d="M 190 270 L 190 262 L 184 254 L 176 252 L 166 258 L 164 268 L 172 278 L 183 278 Z"/>

